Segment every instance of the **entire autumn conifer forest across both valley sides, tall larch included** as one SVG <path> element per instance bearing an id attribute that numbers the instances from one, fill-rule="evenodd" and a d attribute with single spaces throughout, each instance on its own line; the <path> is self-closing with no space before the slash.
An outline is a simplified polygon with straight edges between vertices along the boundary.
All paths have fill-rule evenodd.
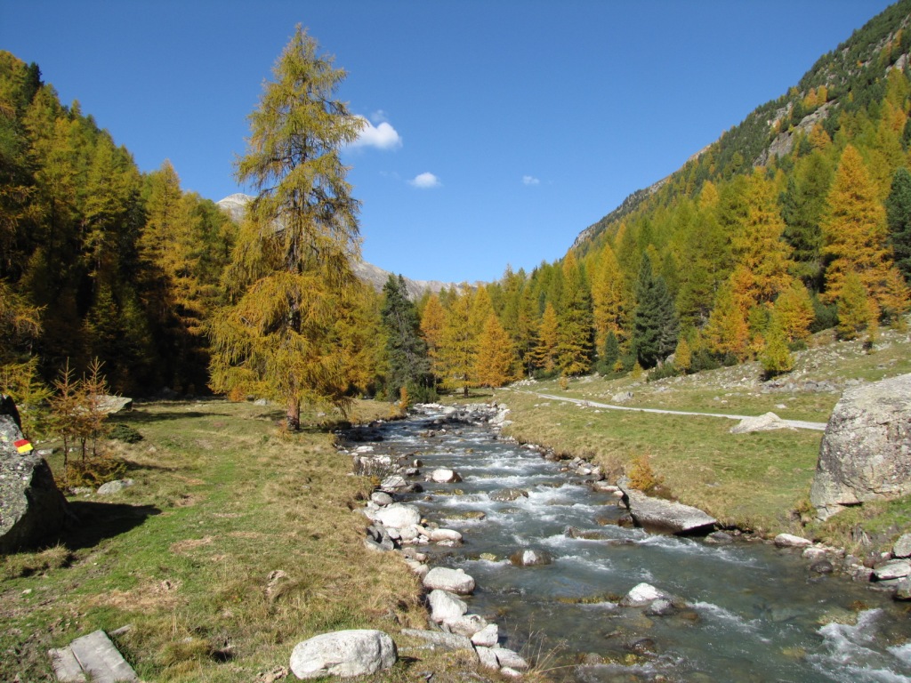
<path id="1" fill-rule="evenodd" d="M 314 188 L 281 189 L 305 176 L 293 162 L 274 186 L 285 203 L 269 189 L 236 223 L 182 191 L 169 162 L 141 173 L 77 102 L 59 102 L 38 66 L 0 53 L 0 384 L 29 403 L 67 361 L 81 372 L 97 359 L 121 392 L 241 398 L 280 392 L 272 364 L 298 372 L 295 395 L 343 407 L 362 392 L 414 400 L 529 375 L 753 358 L 771 375 L 829 327 L 875 342 L 909 308 L 909 15 L 903 0 L 872 19 L 564 258 L 419 301 L 403 280 L 377 294 L 343 265 L 357 257 L 357 202 L 337 162 L 339 141 L 356 134 L 343 107 L 336 130 L 308 113 L 293 134 L 329 159 L 314 171 L 337 192 L 314 200 L 322 212 L 292 199 Z M 269 88 L 337 82 L 307 40 L 296 49 L 300 64 L 265 91 L 264 127 Z M 280 133 L 259 134 L 294 148 L 269 138 Z M 297 241 L 281 243 L 291 231 L 269 226 L 296 224 L 280 219 L 302 221 Z M 289 321 L 291 337 L 270 337 Z M 303 351 L 280 355 L 271 339 Z"/>

